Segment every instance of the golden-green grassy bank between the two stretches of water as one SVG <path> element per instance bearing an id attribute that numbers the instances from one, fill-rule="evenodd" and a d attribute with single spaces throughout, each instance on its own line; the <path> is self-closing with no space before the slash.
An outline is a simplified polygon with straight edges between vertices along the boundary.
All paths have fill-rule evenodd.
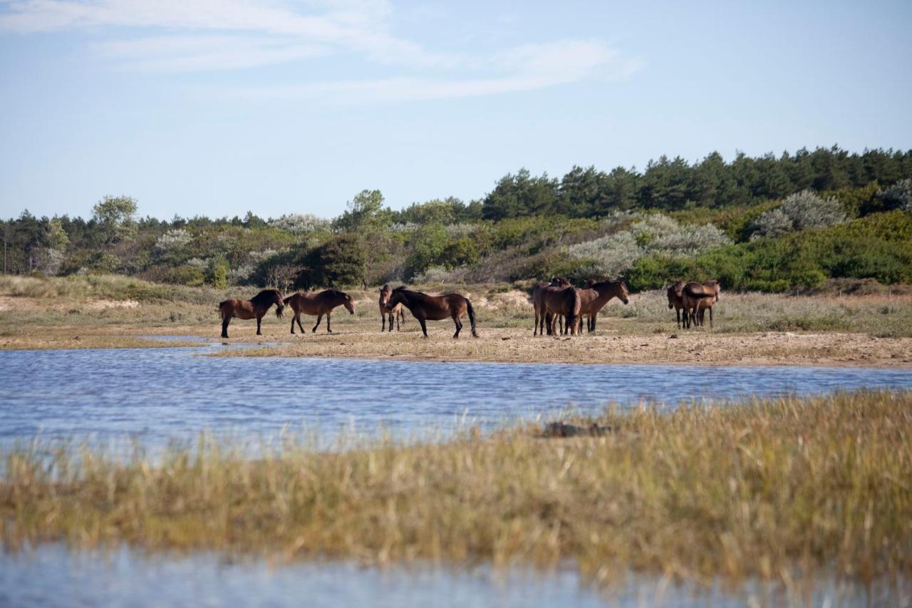
<path id="1" fill-rule="evenodd" d="M 5 455 L 0 540 L 381 564 L 570 560 L 600 583 L 627 569 L 732 583 L 912 575 L 912 393 L 609 409 L 598 423 L 611 432 L 544 439 L 517 427 L 333 453 L 289 441 L 255 461 L 206 442 L 161 463 L 33 446 Z"/>

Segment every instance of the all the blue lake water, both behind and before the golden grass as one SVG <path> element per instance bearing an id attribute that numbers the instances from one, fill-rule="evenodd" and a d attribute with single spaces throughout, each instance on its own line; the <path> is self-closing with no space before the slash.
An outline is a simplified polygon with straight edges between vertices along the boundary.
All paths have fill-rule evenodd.
<path id="1" fill-rule="evenodd" d="M 195 339 L 192 339 L 195 340 Z M 442 435 L 461 424 L 485 428 L 562 408 L 597 412 L 610 402 L 673 406 L 684 398 L 912 390 L 912 372 L 862 368 L 548 365 L 387 362 L 354 359 L 214 358 L 223 348 L 0 351 L 0 446 L 45 438 L 145 446 L 200 431 L 275 435 L 285 426 L 331 438 L 340 432 Z M 233 348 L 233 347 L 232 347 Z M 568 388 L 572 387 L 572 388 Z M 438 435 L 440 436 L 440 435 Z M 617 605 L 742 605 L 790 598 L 747 587 L 701 592 L 630 578 L 607 597 Z M 806 600 L 807 598 L 801 598 Z M 863 604 L 864 592 L 823 581 L 812 604 Z M 880 603 L 883 598 L 873 598 Z M 898 605 L 907 596 L 886 604 Z M 271 567 L 224 556 L 70 551 L 59 545 L 0 550 L 0 605 L 364 605 L 588 606 L 606 597 L 572 569 L 361 568 L 347 562 Z"/>

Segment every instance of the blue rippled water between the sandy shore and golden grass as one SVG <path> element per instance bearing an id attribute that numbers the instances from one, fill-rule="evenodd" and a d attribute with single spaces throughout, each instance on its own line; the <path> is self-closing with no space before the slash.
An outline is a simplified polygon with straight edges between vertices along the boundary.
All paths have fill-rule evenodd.
<path id="1" fill-rule="evenodd" d="M 614 401 L 912 389 L 912 371 L 865 368 L 554 365 L 216 358 L 202 348 L 2 351 L 0 443 L 16 438 L 138 436 L 146 445 L 202 429 L 273 435 L 346 425 L 398 434 L 452 428 L 466 415 L 496 425 L 565 406 Z"/>

